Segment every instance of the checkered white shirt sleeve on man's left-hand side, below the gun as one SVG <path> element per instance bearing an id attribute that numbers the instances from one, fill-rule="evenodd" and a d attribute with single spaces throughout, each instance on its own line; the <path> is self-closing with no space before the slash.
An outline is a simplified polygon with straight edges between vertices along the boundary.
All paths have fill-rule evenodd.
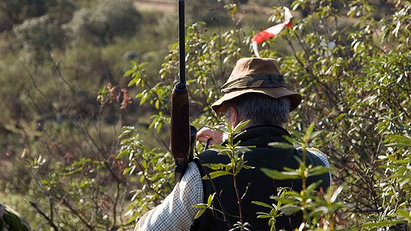
<path id="1" fill-rule="evenodd" d="M 144 214 L 134 231 L 190 230 L 199 208 L 193 205 L 203 202 L 200 172 L 194 162 L 189 163 L 181 181 L 161 204 Z"/>

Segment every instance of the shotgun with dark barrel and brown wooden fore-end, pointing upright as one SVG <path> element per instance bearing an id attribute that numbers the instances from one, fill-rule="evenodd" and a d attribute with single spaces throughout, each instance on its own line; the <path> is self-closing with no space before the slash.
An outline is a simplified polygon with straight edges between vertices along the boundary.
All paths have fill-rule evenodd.
<path id="1" fill-rule="evenodd" d="M 179 80 L 171 94 L 170 149 L 175 161 L 174 182 L 177 184 L 193 159 L 197 129 L 190 126 L 189 89 L 185 83 L 184 0 L 178 0 Z"/>

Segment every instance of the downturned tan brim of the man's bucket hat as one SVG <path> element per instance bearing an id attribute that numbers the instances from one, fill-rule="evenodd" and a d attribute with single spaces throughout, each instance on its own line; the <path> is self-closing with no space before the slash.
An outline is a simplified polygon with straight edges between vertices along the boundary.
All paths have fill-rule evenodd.
<path id="1" fill-rule="evenodd" d="M 261 93 L 269 95 L 272 98 L 278 99 L 281 97 L 288 97 L 290 99 L 290 111 L 293 111 L 295 108 L 300 105 L 302 97 L 301 94 L 292 92 L 285 87 L 276 87 L 276 88 L 247 88 L 247 89 L 240 89 L 234 90 L 224 94 L 220 99 L 214 102 L 211 105 L 211 109 L 219 115 L 220 113 L 226 113 L 226 105 L 224 104 L 225 101 L 234 99 L 241 94 L 245 93 Z"/>

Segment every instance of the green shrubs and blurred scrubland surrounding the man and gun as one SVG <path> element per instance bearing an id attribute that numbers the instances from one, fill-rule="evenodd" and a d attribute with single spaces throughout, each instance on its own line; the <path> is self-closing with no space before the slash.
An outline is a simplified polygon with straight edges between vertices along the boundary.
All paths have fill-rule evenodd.
<path id="1" fill-rule="evenodd" d="M 409 2 L 206 2 L 186 3 L 192 124 L 221 122 L 210 109 L 219 87 L 253 55 L 251 37 L 289 7 L 294 26 L 260 44 L 260 55 L 276 58 L 303 94 L 288 127 L 295 138 L 310 124 L 324 130 L 308 145 L 329 158 L 333 187 L 323 200 L 287 192 L 273 203 L 315 201 L 300 206 L 321 212 L 307 229 L 406 230 Z M 172 190 L 177 12 L 138 4 L 0 3 L 0 203 L 33 230 L 130 229 Z"/>

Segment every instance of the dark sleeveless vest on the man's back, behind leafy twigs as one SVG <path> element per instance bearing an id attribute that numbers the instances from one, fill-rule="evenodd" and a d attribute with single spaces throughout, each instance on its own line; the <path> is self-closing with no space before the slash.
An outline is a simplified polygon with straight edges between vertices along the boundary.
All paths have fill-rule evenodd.
<path id="1" fill-rule="evenodd" d="M 287 143 L 285 136 L 290 136 L 290 134 L 282 127 L 278 126 L 255 126 L 247 128 L 243 133 L 235 136 L 234 141 L 241 141 L 241 146 L 255 146 L 251 148 L 244 155 L 244 160 L 246 165 L 253 166 L 253 169 L 242 169 L 237 175 L 237 186 L 239 190 L 239 195 L 245 194 L 242 199 L 242 213 L 244 216 L 244 222 L 251 224 L 251 230 L 269 230 L 268 219 L 257 219 L 257 212 L 269 213 L 270 209 L 262 206 L 252 204 L 252 201 L 265 202 L 267 204 L 274 203 L 274 200 L 270 199 L 270 196 L 277 195 L 278 187 L 291 187 L 295 191 L 302 190 L 301 180 L 273 180 L 267 177 L 260 168 L 269 168 L 283 171 L 284 167 L 289 167 L 296 169 L 299 167 L 299 163 L 294 157 L 303 159 L 303 154 L 301 150 L 294 148 L 281 149 L 273 148 L 268 146 L 268 143 L 272 142 L 283 142 Z M 312 164 L 312 166 L 321 165 L 324 166 L 322 160 L 307 152 L 306 157 L 307 166 Z M 197 167 L 199 167 L 201 176 L 206 176 L 207 173 L 213 171 L 208 167 L 201 166 L 200 163 L 224 163 L 228 164 L 229 158 L 227 156 L 218 155 L 218 152 L 214 149 L 209 149 L 200 153 L 198 158 L 195 160 Z M 319 187 L 324 190 L 330 185 L 328 173 L 313 176 L 308 178 L 307 185 L 322 180 Z M 217 203 L 215 199 L 213 201 L 213 206 L 219 210 L 225 210 L 228 214 L 229 222 L 231 226 L 239 221 L 238 216 L 238 204 L 237 197 L 234 190 L 233 177 L 231 175 L 226 175 L 218 177 L 212 180 L 213 185 L 210 180 L 203 180 L 204 189 L 204 203 L 207 203 L 209 195 L 213 194 L 215 191 L 220 195 L 220 200 L 222 201 L 222 208 Z M 246 192 L 247 191 L 247 192 Z M 246 192 L 246 193 L 245 193 Z M 218 219 L 215 218 L 218 217 Z M 228 230 L 228 225 L 226 222 L 221 221 L 222 215 L 220 213 L 215 213 L 214 215 L 211 211 L 207 210 L 204 214 L 195 220 L 194 226 L 191 230 Z M 293 216 L 282 216 L 277 219 L 276 228 L 284 228 L 286 230 L 292 230 L 293 228 L 298 228 L 302 222 L 302 214 L 296 213 Z"/>

